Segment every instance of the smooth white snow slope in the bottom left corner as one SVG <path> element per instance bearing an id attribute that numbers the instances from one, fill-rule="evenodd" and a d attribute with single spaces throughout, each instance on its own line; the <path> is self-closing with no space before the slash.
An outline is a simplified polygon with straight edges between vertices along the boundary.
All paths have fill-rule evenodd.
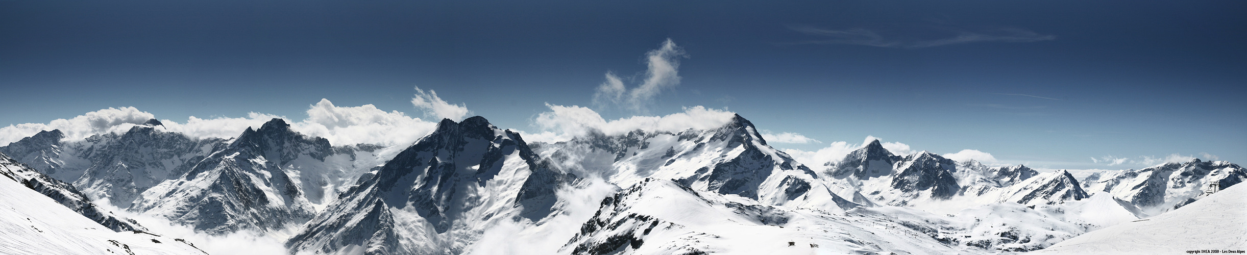
<path id="1" fill-rule="evenodd" d="M 2 155 L 0 155 L 2 157 Z M 206 254 L 188 243 L 146 231 L 113 231 L 40 194 L 0 163 L 0 254 Z M 34 172 L 31 169 L 25 169 Z"/>

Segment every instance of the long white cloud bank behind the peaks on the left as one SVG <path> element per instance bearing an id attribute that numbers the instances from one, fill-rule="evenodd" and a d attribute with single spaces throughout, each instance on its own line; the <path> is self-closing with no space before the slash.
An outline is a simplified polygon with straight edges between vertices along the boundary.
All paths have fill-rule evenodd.
<path id="1" fill-rule="evenodd" d="M 434 97 L 435 98 L 435 97 Z M 276 114 L 247 113 L 247 117 L 188 117 L 185 122 L 161 119 L 167 132 L 183 133 L 192 138 L 232 138 L 248 127 L 259 128 L 273 118 L 291 122 L 296 132 L 323 137 L 334 146 L 357 143 L 403 144 L 410 143 L 433 132 L 436 122 L 424 121 L 399 111 L 385 112 L 373 104 L 358 107 L 338 107 L 329 100 L 320 100 L 309 106 L 307 118 L 301 122 Z M 55 119 L 49 123 L 24 123 L 0 128 L 0 146 L 6 146 L 21 138 L 34 136 L 40 131 L 60 129 L 66 141 L 81 141 L 105 133 L 125 133 L 131 127 L 142 124 L 155 116 L 135 107 L 106 108 L 87 112 L 69 119 Z"/>

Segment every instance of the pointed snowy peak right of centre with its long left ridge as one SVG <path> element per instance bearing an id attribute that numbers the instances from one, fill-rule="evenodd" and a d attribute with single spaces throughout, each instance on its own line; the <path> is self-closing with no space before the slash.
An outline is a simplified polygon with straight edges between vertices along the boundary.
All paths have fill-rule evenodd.
<path id="1" fill-rule="evenodd" d="M 741 116 L 713 129 L 592 133 L 535 147 L 567 169 L 601 175 L 620 187 L 645 178 L 676 179 L 697 190 L 763 204 L 828 210 L 859 205 L 834 194 L 808 167 L 767 146 L 753 123 Z"/>

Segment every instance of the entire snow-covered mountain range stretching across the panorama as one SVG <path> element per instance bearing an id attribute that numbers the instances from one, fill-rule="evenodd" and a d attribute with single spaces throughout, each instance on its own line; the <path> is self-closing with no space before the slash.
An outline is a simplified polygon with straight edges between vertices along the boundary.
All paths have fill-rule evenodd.
<path id="1" fill-rule="evenodd" d="M 540 241 L 559 254 L 1031 251 L 1211 206 L 1210 183 L 1247 179 L 1237 164 L 1200 159 L 1080 179 L 893 154 L 879 141 L 842 159 L 798 162 L 741 116 L 678 132 L 591 129 L 557 143 L 471 117 L 390 147 L 330 144 L 281 118 L 228 139 L 190 138 L 152 119 L 81 141 L 45 131 L 0 153 L 0 183 L 108 230 L 84 240 L 147 231 L 105 209 L 116 206 L 207 235 L 278 236 L 292 254 L 490 254 L 510 245 L 494 243 L 506 231 L 559 239 Z M 577 194 L 589 190 L 607 192 Z M 16 226 L 0 234 L 42 240 Z M 96 226 L 72 229 L 84 228 Z M 142 246 L 121 239 L 108 240 Z"/>

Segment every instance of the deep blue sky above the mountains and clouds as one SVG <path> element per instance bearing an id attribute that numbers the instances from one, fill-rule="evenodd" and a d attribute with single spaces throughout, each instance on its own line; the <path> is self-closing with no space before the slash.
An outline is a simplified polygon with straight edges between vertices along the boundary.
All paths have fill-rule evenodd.
<path id="1" fill-rule="evenodd" d="M 414 87 L 532 131 L 546 103 L 607 119 L 726 108 L 816 151 L 874 136 L 1003 163 L 1247 162 L 1243 1 L 0 1 L 0 126 L 108 107 L 423 117 Z M 594 103 L 606 73 L 643 107 Z M 1092 160 L 1096 158 L 1096 160 Z M 1106 165 L 1101 159 L 1127 158 Z M 1139 163 L 1130 163 L 1131 160 Z"/>

